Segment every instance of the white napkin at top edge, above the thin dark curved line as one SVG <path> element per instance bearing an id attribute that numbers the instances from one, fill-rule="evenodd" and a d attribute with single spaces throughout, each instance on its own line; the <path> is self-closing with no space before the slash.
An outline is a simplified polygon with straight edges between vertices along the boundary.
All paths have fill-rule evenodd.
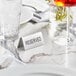
<path id="1" fill-rule="evenodd" d="M 49 7 L 48 4 L 42 0 L 22 0 L 22 4 L 33 6 L 40 11 L 45 11 Z"/>

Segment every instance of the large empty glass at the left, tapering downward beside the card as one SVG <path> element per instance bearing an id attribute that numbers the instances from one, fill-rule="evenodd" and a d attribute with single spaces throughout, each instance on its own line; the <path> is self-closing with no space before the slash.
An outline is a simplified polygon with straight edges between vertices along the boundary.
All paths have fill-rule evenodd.
<path id="1" fill-rule="evenodd" d="M 0 0 L 1 33 L 4 46 L 16 54 L 14 41 L 18 38 L 21 14 L 21 0 Z M 3 42 L 3 41 L 2 41 Z"/>

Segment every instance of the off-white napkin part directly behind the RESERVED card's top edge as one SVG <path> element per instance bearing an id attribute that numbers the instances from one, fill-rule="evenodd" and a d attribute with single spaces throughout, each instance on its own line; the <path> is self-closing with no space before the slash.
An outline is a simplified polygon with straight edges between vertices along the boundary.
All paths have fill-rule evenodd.
<path id="1" fill-rule="evenodd" d="M 26 23 L 23 26 L 21 26 L 20 32 L 19 32 L 19 37 L 27 36 L 29 34 L 33 34 L 40 29 L 48 26 L 48 22 L 40 22 L 37 24 L 32 24 L 32 23 Z"/>

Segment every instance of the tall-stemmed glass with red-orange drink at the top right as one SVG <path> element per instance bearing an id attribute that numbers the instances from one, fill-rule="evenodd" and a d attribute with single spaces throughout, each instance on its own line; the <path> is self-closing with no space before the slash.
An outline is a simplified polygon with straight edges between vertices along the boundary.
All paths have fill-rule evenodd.
<path id="1" fill-rule="evenodd" d="M 70 7 L 73 7 L 73 6 L 76 6 L 76 0 L 54 0 L 55 4 L 57 6 L 62 6 L 62 7 L 66 7 L 67 9 L 67 47 L 66 47 L 66 62 L 67 62 L 67 66 L 70 65 L 70 66 L 73 66 L 74 64 L 74 54 L 70 55 L 69 56 L 69 42 L 70 42 L 70 26 L 72 26 L 72 24 L 70 24 L 70 21 L 69 21 L 69 17 L 70 17 Z"/>

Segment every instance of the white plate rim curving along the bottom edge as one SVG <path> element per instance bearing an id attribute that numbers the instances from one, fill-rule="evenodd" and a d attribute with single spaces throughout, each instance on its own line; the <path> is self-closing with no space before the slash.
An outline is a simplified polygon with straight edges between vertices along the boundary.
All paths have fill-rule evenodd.
<path id="1" fill-rule="evenodd" d="M 0 76 L 76 76 L 76 71 L 49 64 L 27 64 L 1 70 Z"/>

